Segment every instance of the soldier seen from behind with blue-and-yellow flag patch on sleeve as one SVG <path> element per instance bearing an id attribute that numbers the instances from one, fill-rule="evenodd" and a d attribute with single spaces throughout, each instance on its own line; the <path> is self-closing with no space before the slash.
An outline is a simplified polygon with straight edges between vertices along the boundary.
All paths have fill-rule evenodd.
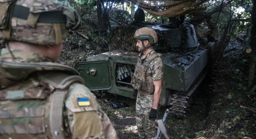
<path id="1" fill-rule="evenodd" d="M 1 139 L 117 139 L 79 73 L 53 63 L 77 13 L 57 0 L 0 0 Z"/>

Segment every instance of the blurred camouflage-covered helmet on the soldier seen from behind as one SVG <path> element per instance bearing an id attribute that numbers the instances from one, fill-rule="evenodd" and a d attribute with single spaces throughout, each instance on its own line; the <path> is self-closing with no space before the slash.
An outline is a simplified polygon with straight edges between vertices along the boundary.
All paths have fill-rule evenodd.
<path id="1" fill-rule="evenodd" d="M 0 5 L 1 43 L 61 44 L 80 26 L 76 11 L 58 0 L 0 0 Z"/>

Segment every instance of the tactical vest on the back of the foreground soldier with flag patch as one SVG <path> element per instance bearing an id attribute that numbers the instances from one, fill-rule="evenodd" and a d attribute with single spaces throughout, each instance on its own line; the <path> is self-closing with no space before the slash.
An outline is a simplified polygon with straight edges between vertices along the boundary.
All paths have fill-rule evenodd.
<path id="1" fill-rule="evenodd" d="M 64 100 L 67 89 L 75 82 L 83 84 L 84 81 L 78 75 L 70 76 L 61 71 L 38 71 L 1 90 L 1 137 L 70 138 Z"/>

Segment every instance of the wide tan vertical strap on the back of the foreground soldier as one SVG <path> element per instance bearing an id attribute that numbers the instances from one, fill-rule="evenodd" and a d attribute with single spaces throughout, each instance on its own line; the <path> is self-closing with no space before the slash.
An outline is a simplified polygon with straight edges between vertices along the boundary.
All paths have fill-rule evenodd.
<path id="1" fill-rule="evenodd" d="M 66 91 L 55 91 L 52 94 L 50 109 L 50 128 L 53 139 L 64 139 L 65 136 L 61 131 L 62 112 Z"/>

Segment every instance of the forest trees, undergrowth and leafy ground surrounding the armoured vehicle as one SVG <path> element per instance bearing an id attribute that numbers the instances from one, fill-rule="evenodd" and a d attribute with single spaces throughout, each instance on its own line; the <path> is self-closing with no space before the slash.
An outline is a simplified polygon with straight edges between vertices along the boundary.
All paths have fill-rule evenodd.
<path id="1" fill-rule="evenodd" d="M 113 32 L 129 25 L 137 9 L 128 0 L 68 0 L 82 19 L 82 27 L 68 36 L 58 63 L 74 65 L 109 51 Z M 186 119 L 170 116 L 166 123 L 172 138 L 256 138 L 256 8 L 254 0 L 209 0 L 203 11 L 186 15 L 196 27 L 200 44 L 211 51 L 209 75 L 199 88 L 197 100 Z M 145 12 L 145 20 L 168 22 L 168 17 Z M 124 32 L 125 34 L 125 32 Z M 138 138 L 135 99 L 104 91 L 97 95 L 119 138 Z M 114 98 L 114 100 L 113 100 Z M 127 107 L 112 109 L 113 102 Z M 166 107 L 161 107 L 161 118 Z"/>

